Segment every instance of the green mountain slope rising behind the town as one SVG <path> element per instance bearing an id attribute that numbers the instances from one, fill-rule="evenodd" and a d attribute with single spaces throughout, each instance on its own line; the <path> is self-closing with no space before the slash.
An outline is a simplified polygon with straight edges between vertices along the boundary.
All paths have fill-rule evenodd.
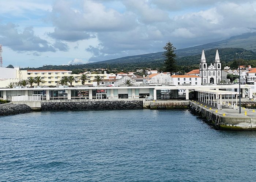
<path id="1" fill-rule="evenodd" d="M 221 62 L 230 62 L 237 58 L 237 55 L 235 54 L 236 52 L 241 53 L 244 51 L 244 54 L 241 56 L 242 59 L 256 60 L 256 32 L 244 33 L 242 35 L 230 37 L 227 40 L 175 50 L 175 53 L 177 55 L 177 64 L 183 66 L 198 64 L 203 49 L 205 51 L 207 61 L 209 63 L 213 62 L 217 48 L 219 51 Z M 83 70 L 94 68 L 108 68 L 108 70 L 117 69 L 131 71 L 142 67 L 150 67 L 156 69 L 163 66 L 164 58 L 162 54 L 163 52 L 156 52 L 151 54 L 127 56 L 123 58 L 105 60 L 89 64 L 65 66 L 47 65 L 39 68 L 23 68 L 23 70 Z"/>

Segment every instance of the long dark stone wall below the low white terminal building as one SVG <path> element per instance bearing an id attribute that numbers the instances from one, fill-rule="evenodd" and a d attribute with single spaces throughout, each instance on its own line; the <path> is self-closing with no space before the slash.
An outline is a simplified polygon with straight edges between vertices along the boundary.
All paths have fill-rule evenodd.
<path id="1" fill-rule="evenodd" d="M 131 101 L 84 101 L 84 102 L 42 102 L 41 110 L 125 110 L 142 109 L 142 100 Z"/>

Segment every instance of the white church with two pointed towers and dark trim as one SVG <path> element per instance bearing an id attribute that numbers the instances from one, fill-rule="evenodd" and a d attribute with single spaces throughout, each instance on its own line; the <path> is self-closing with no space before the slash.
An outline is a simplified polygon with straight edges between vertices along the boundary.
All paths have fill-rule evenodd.
<path id="1" fill-rule="evenodd" d="M 219 52 L 216 51 L 214 63 L 207 65 L 204 50 L 199 64 L 199 76 L 202 79 L 202 85 L 206 83 L 217 84 L 221 82 L 221 62 L 219 59 Z"/>

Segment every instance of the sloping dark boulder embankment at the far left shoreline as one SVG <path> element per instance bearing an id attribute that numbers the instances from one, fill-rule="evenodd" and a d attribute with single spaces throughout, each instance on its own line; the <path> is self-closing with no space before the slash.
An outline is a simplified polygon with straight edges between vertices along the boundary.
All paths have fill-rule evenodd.
<path id="1" fill-rule="evenodd" d="M 26 104 L 8 104 L 0 106 L 0 116 L 22 114 L 32 112 L 32 109 Z"/>

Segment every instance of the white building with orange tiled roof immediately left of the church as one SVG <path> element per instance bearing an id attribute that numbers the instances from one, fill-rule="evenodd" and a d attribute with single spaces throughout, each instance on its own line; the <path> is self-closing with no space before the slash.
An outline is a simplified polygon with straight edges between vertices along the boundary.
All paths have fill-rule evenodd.
<path id="1" fill-rule="evenodd" d="M 201 85 L 200 76 L 196 75 L 172 75 L 173 85 L 178 86 L 182 84 Z"/>

